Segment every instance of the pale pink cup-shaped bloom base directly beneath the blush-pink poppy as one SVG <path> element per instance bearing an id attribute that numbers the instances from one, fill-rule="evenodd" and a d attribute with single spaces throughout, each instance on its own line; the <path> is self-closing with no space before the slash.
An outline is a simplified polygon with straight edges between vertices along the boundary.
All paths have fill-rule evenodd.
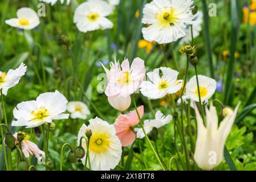
<path id="1" fill-rule="evenodd" d="M 112 107 L 123 112 L 127 110 L 131 105 L 131 96 L 127 96 L 127 97 L 117 96 L 113 98 L 108 97 L 108 102 Z"/>

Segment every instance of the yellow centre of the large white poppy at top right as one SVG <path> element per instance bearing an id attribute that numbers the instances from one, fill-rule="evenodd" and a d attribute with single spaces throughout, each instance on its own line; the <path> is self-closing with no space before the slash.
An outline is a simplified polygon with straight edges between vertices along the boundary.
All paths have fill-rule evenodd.
<path id="1" fill-rule="evenodd" d="M 172 26 L 176 22 L 177 17 L 173 8 L 164 8 L 156 14 L 156 18 L 159 20 L 160 26 Z"/>

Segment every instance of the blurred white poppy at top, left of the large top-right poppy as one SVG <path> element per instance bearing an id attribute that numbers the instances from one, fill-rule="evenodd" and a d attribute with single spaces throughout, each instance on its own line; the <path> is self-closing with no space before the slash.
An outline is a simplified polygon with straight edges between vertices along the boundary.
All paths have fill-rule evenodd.
<path id="1" fill-rule="evenodd" d="M 87 1 L 75 10 L 74 23 L 81 32 L 105 30 L 112 28 L 113 23 L 105 18 L 113 12 L 113 7 L 102 0 Z"/>

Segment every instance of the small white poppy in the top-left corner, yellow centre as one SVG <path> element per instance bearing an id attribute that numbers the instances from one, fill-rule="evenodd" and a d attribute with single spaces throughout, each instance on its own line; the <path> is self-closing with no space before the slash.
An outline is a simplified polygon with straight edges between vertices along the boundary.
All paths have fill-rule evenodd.
<path id="1" fill-rule="evenodd" d="M 37 27 L 40 23 L 39 17 L 34 10 L 29 7 L 22 7 L 17 11 L 17 18 L 5 20 L 6 24 L 12 27 L 31 30 Z"/>

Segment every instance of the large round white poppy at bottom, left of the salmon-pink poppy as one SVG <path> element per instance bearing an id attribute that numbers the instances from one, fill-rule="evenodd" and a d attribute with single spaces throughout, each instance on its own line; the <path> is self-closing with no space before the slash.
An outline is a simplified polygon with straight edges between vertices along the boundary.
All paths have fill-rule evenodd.
<path id="1" fill-rule="evenodd" d="M 86 130 L 91 129 L 89 147 L 91 168 L 94 171 L 109 171 L 118 165 L 122 154 L 121 142 L 116 136 L 115 127 L 97 117 L 90 119 L 89 122 L 90 125 L 83 124 L 79 130 L 78 145 L 82 137 L 86 138 Z M 87 151 L 85 139 L 82 139 L 82 147 Z M 85 164 L 86 155 L 81 160 Z"/>

